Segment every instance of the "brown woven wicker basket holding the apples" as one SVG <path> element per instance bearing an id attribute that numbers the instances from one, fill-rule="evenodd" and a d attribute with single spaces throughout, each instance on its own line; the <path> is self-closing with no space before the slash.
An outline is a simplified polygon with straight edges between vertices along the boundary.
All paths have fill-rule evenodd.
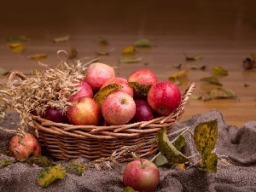
<path id="1" fill-rule="evenodd" d="M 109 158 L 115 152 L 118 162 L 130 161 L 134 152 L 140 157 L 157 151 L 155 137 L 162 127 L 170 132 L 172 125 L 180 119 L 184 105 L 195 90 L 195 83 L 183 93 L 180 106 L 168 116 L 129 125 L 91 126 L 55 123 L 32 115 L 43 152 L 55 160 L 88 160 Z M 136 146 L 132 148 L 131 146 Z M 128 147 L 129 150 L 127 149 Z"/>

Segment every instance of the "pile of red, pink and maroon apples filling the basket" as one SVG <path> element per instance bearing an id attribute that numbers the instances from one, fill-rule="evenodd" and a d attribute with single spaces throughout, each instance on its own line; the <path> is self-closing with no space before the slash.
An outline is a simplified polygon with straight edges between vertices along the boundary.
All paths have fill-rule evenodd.
<path id="1" fill-rule="evenodd" d="M 142 94 L 131 82 L 142 87 L 149 85 L 150 89 L 146 95 Z M 95 100 L 96 93 L 109 84 L 119 84 L 121 88 L 109 94 L 99 106 Z M 116 77 L 114 68 L 101 62 L 88 67 L 79 87 L 80 90 L 67 99 L 73 102 L 67 113 L 47 108 L 42 117 L 72 125 L 125 125 L 169 115 L 179 106 L 182 98 L 176 84 L 158 81 L 149 69 L 138 69 L 125 79 Z"/>

